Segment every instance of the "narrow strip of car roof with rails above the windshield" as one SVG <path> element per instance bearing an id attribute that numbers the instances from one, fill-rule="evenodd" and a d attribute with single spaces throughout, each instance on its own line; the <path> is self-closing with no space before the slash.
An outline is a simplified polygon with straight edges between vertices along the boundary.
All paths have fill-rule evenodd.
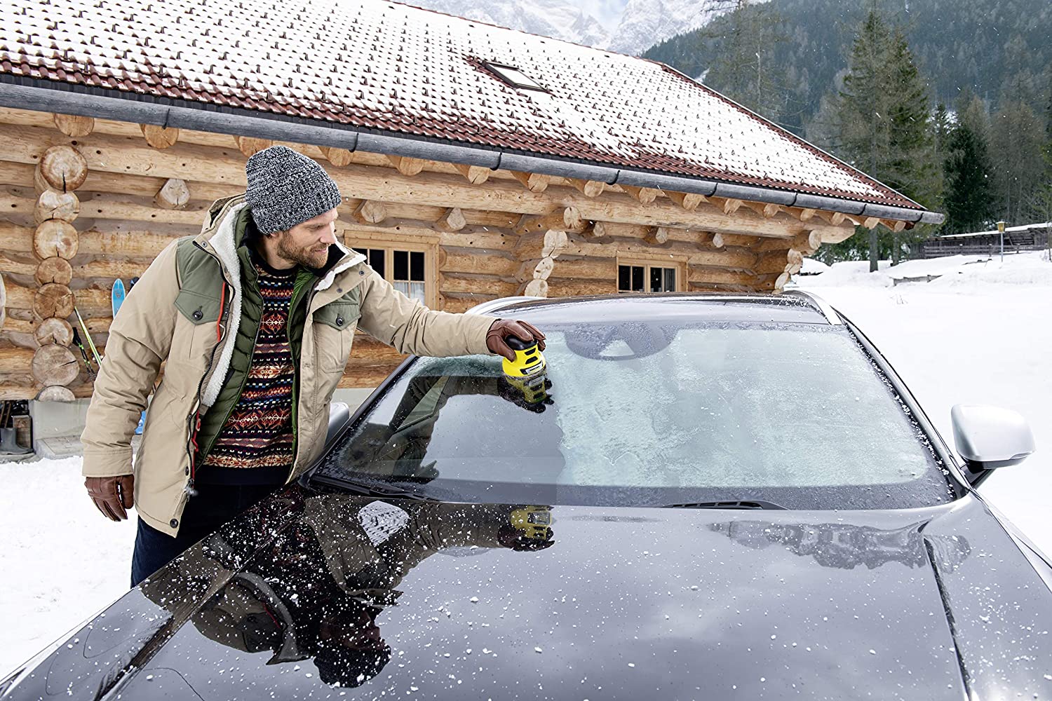
<path id="1" fill-rule="evenodd" d="M 783 294 L 652 293 L 604 294 L 579 297 L 502 297 L 473 307 L 468 313 L 522 313 L 529 317 L 565 316 L 567 321 L 642 321 L 687 313 L 699 321 L 778 322 L 839 325 L 836 311 L 824 300 L 801 290 Z"/>

